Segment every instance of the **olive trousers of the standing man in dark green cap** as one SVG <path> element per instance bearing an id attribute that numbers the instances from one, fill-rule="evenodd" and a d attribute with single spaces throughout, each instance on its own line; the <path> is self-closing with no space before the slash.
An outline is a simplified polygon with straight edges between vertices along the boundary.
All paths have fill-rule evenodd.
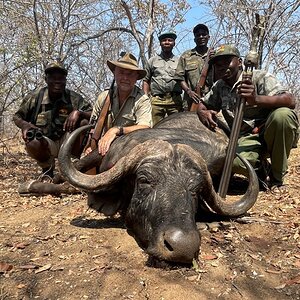
<path id="1" fill-rule="evenodd" d="M 181 95 L 151 97 L 153 126 L 166 116 L 183 111 Z"/>

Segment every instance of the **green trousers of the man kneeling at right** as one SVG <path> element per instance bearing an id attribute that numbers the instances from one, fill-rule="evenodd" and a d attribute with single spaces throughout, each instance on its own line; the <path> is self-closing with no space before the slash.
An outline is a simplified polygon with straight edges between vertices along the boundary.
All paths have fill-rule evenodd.
<path id="1" fill-rule="evenodd" d="M 298 139 L 299 122 L 296 113 L 286 107 L 275 109 L 268 117 L 263 130 L 238 140 L 237 152 L 258 170 L 262 159 L 271 160 L 271 177 L 283 183 L 287 173 L 288 158 Z M 233 161 L 233 173 L 246 175 L 245 166 L 239 158 Z"/>

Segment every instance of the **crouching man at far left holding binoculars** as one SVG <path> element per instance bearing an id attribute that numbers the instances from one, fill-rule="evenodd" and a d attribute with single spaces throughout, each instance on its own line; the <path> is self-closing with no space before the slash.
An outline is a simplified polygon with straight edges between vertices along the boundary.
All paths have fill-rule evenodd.
<path id="1" fill-rule="evenodd" d="M 45 68 L 46 87 L 28 94 L 13 121 L 21 128 L 27 153 L 53 177 L 55 158 L 69 132 L 88 123 L 92 107 L 81 95 L 66 88 L 68 71 L 55 61 Z M 74 155 L 80 155 L 74 149 Z M 76 152 L 77 150 L 77 152 Z"/>

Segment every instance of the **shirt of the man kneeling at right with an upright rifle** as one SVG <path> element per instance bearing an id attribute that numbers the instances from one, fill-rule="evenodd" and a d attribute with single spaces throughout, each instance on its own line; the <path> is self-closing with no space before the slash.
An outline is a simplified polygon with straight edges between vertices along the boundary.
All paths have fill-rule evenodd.
<path id="1" fill-rule="evenodd" d="M 242 80 L 242 74 L 233 87 L 228 86 L 222 79 L 215 82 L 212 89 L 204 98 L 208 109 L 222 111 L 223 116 L 230 127 L 232 127 L 235 109 L 237 107 L 238 94 L 237 84 Z M 263 70 L 254 70 L 252 77 L 257 95 L 274 96 L 287 92 L 279 81 L 270 73 Z M 245 106 L 241 134 L 251 133 L 254 127 L 263 124 L 272 109 Z"/>

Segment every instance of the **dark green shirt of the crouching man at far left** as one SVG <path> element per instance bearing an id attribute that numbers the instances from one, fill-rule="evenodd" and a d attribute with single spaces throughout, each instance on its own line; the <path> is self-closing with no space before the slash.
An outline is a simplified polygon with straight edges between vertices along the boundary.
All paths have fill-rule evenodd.
<path id="1" fill-rule="evenodd" d="M 34 120 L 38 98 L 43 89 L 43 99 L 36 120 Z M 92 107 L 80 94 L 68 89 L 65 89 L 65 93 L 60 99 L 52 103 L 46 87 L 28 94 L 15 115 L 27 122 L 34 123 L 46 137 L 58 140 L 64 134 L 64 122 L 73 110 L 91 111 Z"/>

